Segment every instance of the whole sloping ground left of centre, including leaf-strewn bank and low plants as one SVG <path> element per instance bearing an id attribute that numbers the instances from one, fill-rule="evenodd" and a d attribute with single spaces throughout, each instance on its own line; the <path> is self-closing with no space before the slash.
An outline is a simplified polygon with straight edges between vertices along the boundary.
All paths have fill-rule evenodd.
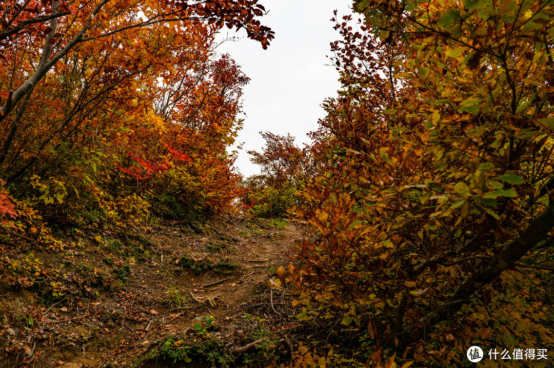
<path id="1" fill-rule="evenodd" d="M 7 243 L 0 368 L 279 364 L 294 318 L 277 273 L 299 237 L 286 222 L 222 219 Z"/>

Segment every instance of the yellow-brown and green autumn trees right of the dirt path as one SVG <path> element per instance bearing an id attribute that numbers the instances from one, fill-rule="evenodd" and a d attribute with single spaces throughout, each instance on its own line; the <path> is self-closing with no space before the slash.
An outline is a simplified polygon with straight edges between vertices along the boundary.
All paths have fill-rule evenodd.
<path id="1" fill-rule="evenodd" d="M 296 210 L 319 234 L 298 244 L 296 281 L 367 324 L 374 361 L 385 342 L 426 364 L 552 344 L 552 296 L 527 288 L 552 287 L 553 5 L 413 6 L 360 1 L 357 30 L 337 22 L 343 90 L 322 121 L 336 164 Z"/>

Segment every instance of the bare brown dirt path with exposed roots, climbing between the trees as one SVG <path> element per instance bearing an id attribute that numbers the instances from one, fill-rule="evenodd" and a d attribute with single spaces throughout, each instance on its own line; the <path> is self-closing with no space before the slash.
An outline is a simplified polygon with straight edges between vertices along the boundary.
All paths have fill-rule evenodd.
<path id="1" fill-rule="evenodd" d="M 91 241 L 70 257 L 37 253 L 42 262 L 65 265 L 78 286 L 37 317 L 32 329 L 48 338 L 27 338 L 34 342 L 30 364 L 154 367 L 165 341 L 178 351 L 179 344 L 206 344 L 211 334 L 219 348 L 237 351 L 252 343 L 254 331 L 270 336 L 280 329 L 285 293 L 269 288 L 268 280 L 288 263 L 289 247 L 300 236 L 295 227 L 196 230 L 158 226 L 150 234 L 106 235 L 103 244 Z M 11 345 L 19 334 L 24 331 L 16 329 Z"/>

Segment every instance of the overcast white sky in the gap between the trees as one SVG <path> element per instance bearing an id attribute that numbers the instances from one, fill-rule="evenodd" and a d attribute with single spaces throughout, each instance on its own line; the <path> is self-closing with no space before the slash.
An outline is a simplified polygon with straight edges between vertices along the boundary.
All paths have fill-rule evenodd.
<path id="1" fill-rule="evenodd" d="M 330 21 L 333 11 L 348 14 L 351 0 L 260 0 L 268 15 L 262 23 L 271 27 L 275 39 L 267 50 L 245 33 L 225 42 L 219 53 L 229 53 L 250 77 L 244 89 L 244 112 L 247 115 L 238 141 L 244 142 L 235 166 L 248 177 L 259 173 L 246 151 L 261 151 L 264 139 L 260 131 L 291 133 L 296 143 L 309 142 L 306 133 L 317 129 L 317 120 L 325 116 L 321 103 L 336 95 L 338 74 L 330 64 L 329 44 L 340 38 Z M 223 33 L 225 35 L 225 32 Z"/>

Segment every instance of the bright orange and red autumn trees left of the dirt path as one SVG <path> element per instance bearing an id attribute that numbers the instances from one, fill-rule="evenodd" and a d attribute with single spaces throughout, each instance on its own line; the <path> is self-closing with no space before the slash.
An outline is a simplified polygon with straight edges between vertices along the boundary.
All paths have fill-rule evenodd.
<path id="1" fill-rule="evenodd" d="M 266 48 L 257 0 L 1 5 L 6 224 L 37 232 L 43 215 L 106 225 L 230 209 L 239 177 L 227 148 L 248 77 L 213 39 L 244 28 Z"/>

